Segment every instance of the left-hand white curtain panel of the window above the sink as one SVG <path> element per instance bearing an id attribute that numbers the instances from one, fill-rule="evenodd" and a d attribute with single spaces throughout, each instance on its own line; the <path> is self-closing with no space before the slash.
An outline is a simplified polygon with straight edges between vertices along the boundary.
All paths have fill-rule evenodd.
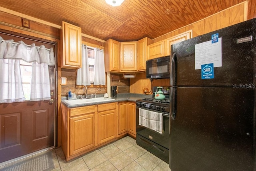
<path id="1" fill-rule="evenodd" d="M 89 62 L 88 62 L 88 50 L 87 46 L 82 44 L 82 68 L 77 70 L 76 85 L 91 85 Z"/>

